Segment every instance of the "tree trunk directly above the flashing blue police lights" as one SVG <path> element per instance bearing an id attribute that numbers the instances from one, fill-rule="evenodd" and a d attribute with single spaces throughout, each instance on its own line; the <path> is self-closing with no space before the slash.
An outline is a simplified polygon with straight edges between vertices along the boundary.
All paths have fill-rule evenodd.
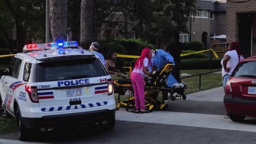
<path id="1" fill-rule="evenodd" d="M 67 40 L 67 0 L 50 1 L 50 28 L 54 42 Z"/>

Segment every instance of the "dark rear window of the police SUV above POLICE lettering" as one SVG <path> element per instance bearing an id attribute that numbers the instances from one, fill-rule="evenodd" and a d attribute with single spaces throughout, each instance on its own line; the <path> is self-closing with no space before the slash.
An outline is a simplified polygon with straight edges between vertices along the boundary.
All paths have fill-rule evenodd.
<path id="1" fill-rule="evenodd" d="M 83 58 L 37 64 L 37 82 L 106 76 L 99 59 Z"/>

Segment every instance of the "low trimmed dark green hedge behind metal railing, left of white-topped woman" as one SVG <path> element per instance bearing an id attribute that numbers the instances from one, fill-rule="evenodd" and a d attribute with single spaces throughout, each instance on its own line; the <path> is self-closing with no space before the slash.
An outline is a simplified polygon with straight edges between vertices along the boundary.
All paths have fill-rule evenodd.
<path id="1" fill-rule="evenodd" d="M 212 61 L 212 69 L 220 69 L 222 65 L 220 64 L 221 59 L 214 59 Z M 181 69 L 210 69 L 210 58 L 191 58 L 182 59 Z"/>

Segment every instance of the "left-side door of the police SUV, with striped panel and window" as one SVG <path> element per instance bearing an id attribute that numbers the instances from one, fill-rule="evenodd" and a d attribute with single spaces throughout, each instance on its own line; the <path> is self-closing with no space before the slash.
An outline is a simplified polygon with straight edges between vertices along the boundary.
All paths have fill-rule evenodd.
<path id="1" fill-rule="evenodd" d="M 9 65 L 9 68 L 7 70 L 7 75 L 3 77 L 3 89 L 4 89 L 3 104 L 7 108 L 7 110 L 10 110 L 11 112 L 14 112 L 13 101 L 15 96 L 18 94 L 18 92 L 15 90 L 22 83 L 22 81 L 18 79 L 21 63 L 22 63 L 21 59 L 14 58 L 11 64 Z"/>

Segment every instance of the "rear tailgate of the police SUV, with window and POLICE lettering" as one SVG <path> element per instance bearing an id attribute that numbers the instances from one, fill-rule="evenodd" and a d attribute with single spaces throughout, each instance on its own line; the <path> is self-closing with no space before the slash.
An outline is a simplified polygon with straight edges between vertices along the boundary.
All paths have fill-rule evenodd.
<path id="1" fill-rule="evenodd" d="M 107 72 L 98 58 L 49 61 L 37 65 L 42 111 L 88 110 L 108 102 Z"/>

